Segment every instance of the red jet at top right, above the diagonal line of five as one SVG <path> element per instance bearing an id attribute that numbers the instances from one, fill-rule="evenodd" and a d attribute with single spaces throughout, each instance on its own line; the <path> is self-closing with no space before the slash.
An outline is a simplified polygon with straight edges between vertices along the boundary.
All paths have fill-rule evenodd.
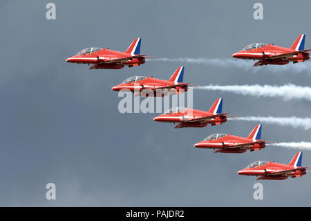
<path id="1" fill-rule="evenodd" d="M 304 62 L 309 60 L 311 49 L 304 50 L 305 34 L 299 35 L 290 48 L 283 48 L 273 44 L 254 43 L 245 46 L 242 51 L 232 55 L 233 58 L 259 60 L 254 66 L 267 64 L 288 64 L 288 62 Z"/>

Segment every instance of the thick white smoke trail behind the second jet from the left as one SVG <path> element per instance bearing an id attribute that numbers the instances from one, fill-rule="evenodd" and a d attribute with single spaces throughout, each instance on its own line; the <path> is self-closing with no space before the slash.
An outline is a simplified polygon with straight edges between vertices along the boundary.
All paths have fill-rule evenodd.
<path id="1" fill-rule="evenodd" d="M 281 97 L 284 100 L 305 99 L 311 101 L 311 87 L 302 87 L 292 84 L 283 86 L 273 85 L 209 85 L 192 87 L 211 91 L 228 91 L 235 94 L 250 95 L 257 97 Z"/>

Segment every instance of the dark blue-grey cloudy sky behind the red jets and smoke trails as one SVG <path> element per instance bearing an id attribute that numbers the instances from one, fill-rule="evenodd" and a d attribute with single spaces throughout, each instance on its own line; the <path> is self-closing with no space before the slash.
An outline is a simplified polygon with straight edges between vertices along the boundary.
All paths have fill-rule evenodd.
<path id="1" fill-rule="evenodd" d="M 200 85 L 310 86 L 310 73 L 270 73 L 180 62 L 147 62 L 120 70 L 68 64 L 88 46 L 125 51 L 142 37 L 141 52 L 160 58 L 230 58 L 253 42 L 290 46 L 301 33 L 310 48 L 310 1 L 1 1 L 0 206 L 310 206 L 311 176 L 262 181 L 264 200 L 253 199 L 254 177 L 236 171 L 256 160 L 288 163 L 295 150 L 267 147 L 245 154 L 214 154 L 193 144 L 213 133 L 247 136 L 256 123 L 173 129 L 156 114 L 120 114 L 111 91 L 130 76 L 168 79 L 185 66 L 185 82 Z M 254 67 L 256 68 L 256 67 Z M 306 100 L 256 98 L 194 91 L 194 107 L 218 97 L 238 116 L 305 116 Z M 263 124 L 263 139 L 311 141 L 310 130 Z M 303 166 L 311 166 L 303 152 Z M 46 200 L 53 182 L 57 200 Z"/>

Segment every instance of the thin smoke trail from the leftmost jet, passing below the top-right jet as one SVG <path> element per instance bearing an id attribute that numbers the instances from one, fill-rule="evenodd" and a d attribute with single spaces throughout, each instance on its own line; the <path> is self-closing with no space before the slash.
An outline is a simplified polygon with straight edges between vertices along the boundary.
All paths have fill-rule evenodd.
<path id="1" fill-rule="evenodd" d="M 205 64 L 209 66 L 217 66 L 223 68 L 238 68 L 244 71 L 252 71 L 257 73 L 258 71 L 267 70 L 272 73 L 283 73 L 290 71 L 292 73 L 311 73 L 311 62 L 299 62 L 297 64 L 285 64 L 285 65 L 267 65 L 261 67 L 253 67 L 253 60 L 240 60 L 233 58 L 154 58 L 148 61 L 160 61 L 160 62 L 181 62 L 192 64 Z"/>

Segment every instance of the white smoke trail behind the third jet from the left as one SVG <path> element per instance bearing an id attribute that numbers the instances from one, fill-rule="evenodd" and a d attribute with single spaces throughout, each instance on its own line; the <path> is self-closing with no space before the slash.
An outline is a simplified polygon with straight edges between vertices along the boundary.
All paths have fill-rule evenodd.
<path id="1" fill-rule="evenodd" d="M 243 116 L 232 118 L 237 121 L 256 121 L 267 124 L 290 126 L 293 128 L 303 127 L 304 130 L 311 128 L 311 118 L 292 117 L 273 117 L 273 116 Z"/>

